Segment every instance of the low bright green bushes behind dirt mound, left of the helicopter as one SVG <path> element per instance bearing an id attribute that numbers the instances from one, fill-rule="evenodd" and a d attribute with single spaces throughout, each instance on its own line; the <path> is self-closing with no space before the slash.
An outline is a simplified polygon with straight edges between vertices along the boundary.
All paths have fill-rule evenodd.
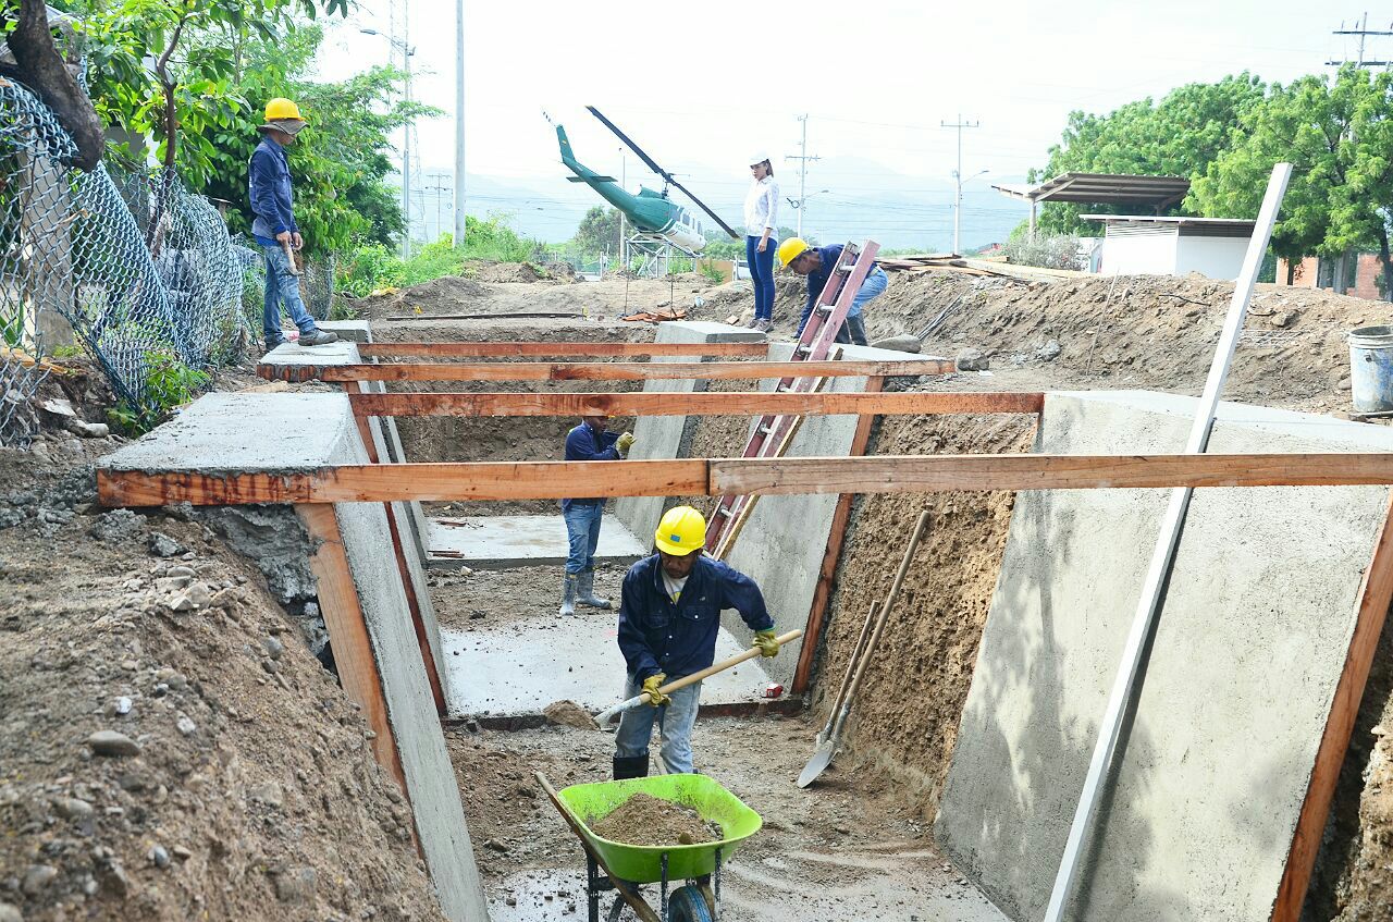
<path id="1" fill-rule="evenodd" d="M 546 253 L 540 241 L 520 237 L 503 214 L 488 220 L 467 216 L 464 234 L 460 249 L 454 247 L 453 234 L 442 234 L 440 240 L 426 244 L 408 260 L 382 244 L 359 247 L 340 260 L 337 288 L 361 298 L 380 288 L 417 286 L 443 276 L 471 276 L 474 273 L 467 263 L 476 260 L 534 262 L 542 260 Z"/>

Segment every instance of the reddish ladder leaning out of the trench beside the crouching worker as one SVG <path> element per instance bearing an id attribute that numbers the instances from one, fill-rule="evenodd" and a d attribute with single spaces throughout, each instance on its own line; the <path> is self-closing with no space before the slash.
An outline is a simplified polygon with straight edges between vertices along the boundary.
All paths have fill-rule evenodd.
<path id="1" fill-rule="evenodd" d="M 826 359 L 836 344 L 837 331 L 851 311 L 851 302 L 861 290 L 861 283 L 871 273 L 880 244 L 868 240 L 861 247 L 847 244 L 841 248 L 837 265 L 827 276 L 818 302 L 812 308 L 808 325 L 804 326 L 798 344 L 790 361 L 820 362 Z M 779 393 L 812 393 L 822 387 L 822 377 L 784 377 L 775 384 Z M 798 425 L 800 415 L 766 414 L 755 423 L 745 443 L 745 458 L 777 458 L 788 450 Z M 749 515 L 756 496 L 722 496 L 706 525 L 706 553 L 717 560 L 724 557 L 740 535 L 740 528 Z"/>

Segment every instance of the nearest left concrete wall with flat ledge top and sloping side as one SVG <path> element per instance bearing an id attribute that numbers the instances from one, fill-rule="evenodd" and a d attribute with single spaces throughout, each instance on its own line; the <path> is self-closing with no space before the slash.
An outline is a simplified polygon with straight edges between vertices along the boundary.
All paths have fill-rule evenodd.
<path id="1" fill-rule="evenodd" d="M 343 394 L 213 393 L 99 465 L 125 471 L 291 474 L 365 461 L 366 451 Z M 411 627 L 386 507 L 341 503 L 334 511 L 440 904 L 453 922 L 486 919 L 460 790 Z"/>

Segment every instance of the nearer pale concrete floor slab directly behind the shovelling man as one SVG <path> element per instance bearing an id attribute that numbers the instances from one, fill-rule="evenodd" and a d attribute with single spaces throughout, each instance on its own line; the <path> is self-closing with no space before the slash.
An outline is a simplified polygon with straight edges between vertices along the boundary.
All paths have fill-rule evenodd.
<path id="1" fill-rule="evenodd" d="M 451 717 L 540 714 L 563 699 L 595 712 L 624 694 L 624 657 L 612 611 L 582 609 L 574 618 L 547 616 L 478 631 L 443 628 L 442 635 Z M 717 660 L 744 649 L 724 630 L 716 638 Z M 703 705 L 762 701 L 766 684 L 761 662 L 749 660 L 702 682 L 701 699 Z"/>

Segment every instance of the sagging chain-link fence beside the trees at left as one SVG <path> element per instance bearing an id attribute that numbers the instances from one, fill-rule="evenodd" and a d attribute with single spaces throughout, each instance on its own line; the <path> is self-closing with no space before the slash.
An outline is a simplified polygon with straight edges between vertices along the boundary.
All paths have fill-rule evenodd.
<path id="1" fill-rule="evenodd" d="M 77 341 L 137 409 L 162 369 L 237 361 L 260 338 L 265 265 L 217 209 L 167 170 L 72 170 L 71 138 L 24 86 L 0 79 L 0 444 L 36 430 L 45 357 Z M 333 260 L 301 279 L 327 318 Z"/>

